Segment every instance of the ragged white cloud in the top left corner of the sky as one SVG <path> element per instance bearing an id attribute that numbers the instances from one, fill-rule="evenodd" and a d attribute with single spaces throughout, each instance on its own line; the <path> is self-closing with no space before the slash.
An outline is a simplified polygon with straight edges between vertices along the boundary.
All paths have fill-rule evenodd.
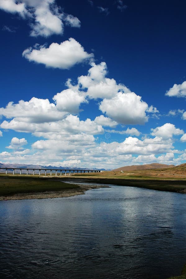
<path id="1" fill-rule="evenodd" d="M 55 0 L 1 0 L 0 9 L 29 19 L 32 29 L 30 35 L 33 37 L 63 34 L 64 23 L 80 27 L 79 19 L 64 13 Z"/>

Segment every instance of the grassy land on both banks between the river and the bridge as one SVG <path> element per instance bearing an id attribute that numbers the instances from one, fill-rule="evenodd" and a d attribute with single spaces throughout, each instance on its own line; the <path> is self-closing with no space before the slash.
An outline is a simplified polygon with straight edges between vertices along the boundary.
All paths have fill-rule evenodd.
<path id="1" fill-rule="evenodd" d="M 186 193 L 185 179 L 126 178 L 123 174 L 113 177 L 109 172 L 72 176 L 0 175 L 0 200 L 70 197 L 92 188 L 108 187 L 106 184 Z"/>

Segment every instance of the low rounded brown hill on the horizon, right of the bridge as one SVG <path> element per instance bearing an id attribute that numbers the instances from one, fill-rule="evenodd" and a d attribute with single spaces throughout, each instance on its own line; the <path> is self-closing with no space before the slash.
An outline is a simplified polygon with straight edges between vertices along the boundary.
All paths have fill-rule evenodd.
<path id="1" fill-rule="evenodd" d="M 133 166 L 124 166 L 120 167 L 118 169 L 115 169 L 116 171 L 130 171 L 130 170 L 155 170 L 155 169 L 166 169 L 166 168 L 172 168 L 175 167 L 175 165 L 165 165 L 165 164 L 158 164 L 158 163 L 152 163 L 147 165 L 133 165 Z"/>

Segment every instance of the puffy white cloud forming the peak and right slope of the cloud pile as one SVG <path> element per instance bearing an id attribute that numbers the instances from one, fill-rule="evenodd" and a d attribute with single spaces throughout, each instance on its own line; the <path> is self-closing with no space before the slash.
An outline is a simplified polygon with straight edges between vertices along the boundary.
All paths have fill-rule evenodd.
<path id="1" fill-rule="evenodd" d="M 107 65 L 101 62 L 91 63 L 87 76 L 78 78 L 79 90 L 91 99 L 103 99 L 99 109 L 108 117 L 120 124 L 144 124 L 148 121 L 147 113 L 158 113 L 157 108 L 141 100 L 124 84 L 117 84 L 112 78 L 106 78 Z"/>

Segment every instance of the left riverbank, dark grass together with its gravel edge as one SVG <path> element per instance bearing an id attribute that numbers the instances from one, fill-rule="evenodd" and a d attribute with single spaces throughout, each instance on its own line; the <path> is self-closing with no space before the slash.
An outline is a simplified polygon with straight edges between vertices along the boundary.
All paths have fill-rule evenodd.
<path id="1" fill-rule="evenodd" d="M 61 180 L 61 179 L 60 179 Z M 64 183 L 51 177 L 0 176 L 0 201 L 44 199 L 82 195 L 85 191 L 105 185 Z"/>

